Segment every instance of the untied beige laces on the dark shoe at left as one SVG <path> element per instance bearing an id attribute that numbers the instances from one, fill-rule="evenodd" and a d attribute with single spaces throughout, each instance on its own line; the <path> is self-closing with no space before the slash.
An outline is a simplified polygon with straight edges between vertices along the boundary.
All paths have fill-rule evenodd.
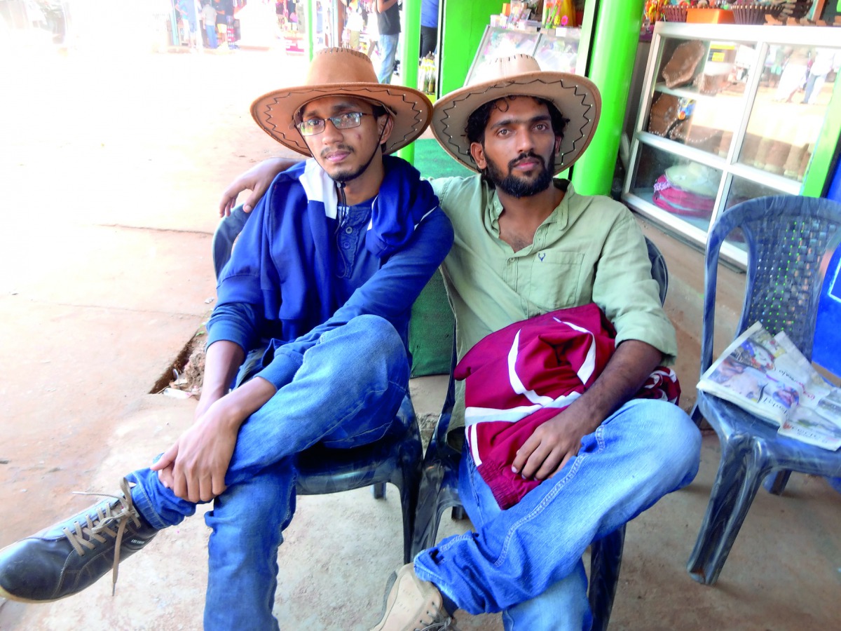
<path id="1" fill-rule="evenodd" d="M 100 544 L 104 544 L 107 539 L 103 535 L 108 535 L 108 537 L 116 539 L 114 542 L 114 569 L 111 574 L 111 596 L 114 596 L 114 593 L 117 591 L 119 549 L 123 543 L 125 527 L 128 525 L 129 520 L 134 522 L 136 527 L 140 527 L 140 513 L 137 512 L 134 502 L 131 501 L 129 481 L 125 478 L 120 480 L 119 490 L 122 491 L 121 496 L 114 496 L 110 493 L 74 491 L 76 495 L 81 496 L 113 497 L 118 503 L 100 504 L 96 507 L 97 515 L 93 519 L 90 515 L 87 515 L 85 523 L 73 522 L 72 530 L 71 528 L 61 529 L 79 556 L 85 555 L 85 548 L 89 550 L 96 548 L 96 544 L 93 543 L 94 540 Z M 113 528 L 115 522 L 117 525 L 116 531 Z"/>

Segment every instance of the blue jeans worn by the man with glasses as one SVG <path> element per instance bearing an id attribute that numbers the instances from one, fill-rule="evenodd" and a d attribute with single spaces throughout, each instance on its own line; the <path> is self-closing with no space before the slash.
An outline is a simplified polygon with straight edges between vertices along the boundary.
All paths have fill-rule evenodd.
<path id="1" fill-rule="evenodd" d="M 325 332 L 304 364 L 240 428 L 225 475 L 227 490 L 205 516 L 208 544 L 205 629 L 277 629 L 272 617 L 281 531 L 295 511 L 295 455 L 315 443 L 351 448 L 394 430 L 409 384 L 409 362 L 397 331 L 360 315 Z M 155 528 L 193 515 L 157 474 L 140 469 L 132 499 Z"/>

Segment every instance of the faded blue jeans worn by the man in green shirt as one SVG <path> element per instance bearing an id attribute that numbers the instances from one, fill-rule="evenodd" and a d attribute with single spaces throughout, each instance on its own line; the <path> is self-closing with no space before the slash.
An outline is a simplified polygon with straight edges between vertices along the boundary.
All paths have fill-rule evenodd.
<path id="1" fill-rule="evenodd" d="M 465 450 L 459 494 L 476 532 L 415 557 L 415 571 L 468 613 L 503 612 L 507 631 L 589 629 L 581 555 L 698 472 L 701 432 L 678 406 L 631 400 L 578 455 L 502 511 Z"/>

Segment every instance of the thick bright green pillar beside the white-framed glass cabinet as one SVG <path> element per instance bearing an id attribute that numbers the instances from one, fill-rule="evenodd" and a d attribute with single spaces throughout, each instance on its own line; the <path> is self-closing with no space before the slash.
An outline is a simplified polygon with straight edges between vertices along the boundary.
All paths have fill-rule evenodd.
<path id="1" fill-rule="evenodd" d="M 644 0 L 601 0 L 596 8 L 587 76 L 601 93 L 601 119 L 593 141 L 573 167 L 572 181 L 580 194 L 611 193 L 643 4 Z"/>

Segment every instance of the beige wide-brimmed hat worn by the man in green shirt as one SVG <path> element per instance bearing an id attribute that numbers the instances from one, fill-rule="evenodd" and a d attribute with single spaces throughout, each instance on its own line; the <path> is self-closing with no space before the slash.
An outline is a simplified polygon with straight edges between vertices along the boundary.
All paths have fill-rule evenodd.
<path id="1" fill-rule="evenodd" d="M 486 77 L 492 79 L 483 80 Z M 568 72 L 542 71 L 528 55 L 502 57 L 480 68 L 477 82 L 447 94 L 435 103 L 432 133 L 447 153 L 472 171 L 478 171 L 470 155 L 468 118 L 484 103 L 511 96 L 545 98 L 567 119 L 563 141 L 555 156 L 557 175 L 579 159 L 590 145 L 599 123 L 601 95 L 595 83 Z"/>

